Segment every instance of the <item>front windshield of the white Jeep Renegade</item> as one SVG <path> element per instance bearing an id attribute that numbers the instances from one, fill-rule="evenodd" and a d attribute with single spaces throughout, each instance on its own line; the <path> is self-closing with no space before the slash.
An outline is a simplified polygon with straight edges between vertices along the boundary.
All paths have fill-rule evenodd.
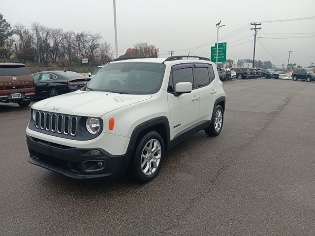
<path id="1" fill-rule="evenodd" d="M 161 87 L 165 64 L 119 62 L 105 65 L 88 84 L 93 91 L 151 94 Z"/>

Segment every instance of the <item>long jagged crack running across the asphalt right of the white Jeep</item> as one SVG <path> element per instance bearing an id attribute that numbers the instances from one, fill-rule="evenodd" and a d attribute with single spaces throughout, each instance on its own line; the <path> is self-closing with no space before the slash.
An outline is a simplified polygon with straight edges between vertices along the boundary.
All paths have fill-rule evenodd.
<path id="1" fill-rule="evenodd" d="M 301 89 L 300 89 L 301 90 Z M 300 91 L 299 90 L 299 91 Z M 298 91 L 298 92 L 299 92 Z M 246 146 L 248 146 L 252 140 L 254 138 L 256 138 L 271 122 L 274 118 L 276 118 L 279 113 L 284 109 L 284 107 L 292 100 L 292 98 L 298 93 L 296 92 L 295 94 L 291 94 L 291 95 L 288 95 L 285 97 L 285 100 L 283 100 L 283 104 L 279 104 L 277 107 L 275 107 L 275 111 L 272 111 L 270 114 L 272 114 L 271 118 L 263 125 L 263 127 L 254 135 L 252 135 L 252 137 L 249 138 L 249 141 L 246 143 L 246 144 L 243 144 L 243 145 L 240 145 L 240 146 L 234 146 L 234 147 L 230 147 L 230 148 L 225 148 L 225 149 L 222 149 L 222 151 L 215 156 L 217 162 L 221 165 L 221 168 L 217 171 L 217 175 L 211 179 L 211 183 L 210 183 L 210 186 L 208 187 L 208 189 L 206 189 L 206 191 L 200 193 L 199 195 L 197 195 L 196 197 L 192 198 L 191 200 L 189 200 L 189 206 L 184 209 L 182 212 L 180 212 L 179 214 L 176 215 L 176 222 L 174 224 L 172 224 L 171 226 L 167 227 L 166 229 L 160 231 L 158 235 L 161 235 L 163 234 L 164 232 L 172 229 L 173 227 L 175 226 L 178 226 L 179 225 L 179 222 L 180 222 L 180 218 L 182 215 L 184 215 L 187 211 L 189 211 L 189 209 L 191 209 L 195 203 L 195 201 L 197 199 L 200 199 L 202 198 L 203 196 L 205 196 L 207 193 L 209 193 L 214 185 L 214 182 L 217 180 L 217 178 L 221 175 L 221 173 L 223 173 L 224 171 L 227 171 L 228 170 L 228 165 L 224 164 L 221 162 L 220 160 L 220 156 L 224 153 L 224 151 L 227 151 L 227 150 L 230 150 L 230 149 L 234 149 L 234 148 L 244 148 Z M 232 160 L 232 162 L 234 162 L 236 159 L 236 157 Z"/>

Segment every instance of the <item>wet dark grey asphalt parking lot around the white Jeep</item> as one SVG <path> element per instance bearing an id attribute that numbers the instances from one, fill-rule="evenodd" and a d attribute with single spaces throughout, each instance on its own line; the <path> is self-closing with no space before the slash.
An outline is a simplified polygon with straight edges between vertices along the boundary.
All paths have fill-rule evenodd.
<path id="1" fill-rule="evenodd" d="M 224 83 L 221 135 L 156 179 L 77 181 L 27 162 L 30 108 L 0 104 L 0 235 L 315 235 L 315 83 Z"/>

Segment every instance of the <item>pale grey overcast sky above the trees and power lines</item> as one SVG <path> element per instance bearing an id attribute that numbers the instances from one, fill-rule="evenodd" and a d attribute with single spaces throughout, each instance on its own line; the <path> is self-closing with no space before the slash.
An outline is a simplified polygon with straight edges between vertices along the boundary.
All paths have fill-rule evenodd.
<path id="1" fill-rule="evenodd" d="M 0 1 L 0 13 L 11 26 L 39 22 L 50 28 L 100 33 L 115 51 L 113 0 Z M 148 42 L 159 48 L 160 57 L 167 57 L 170 50 L 175 55 L 190 51 L 190 55 L 210 57 L 210 46 L 217 38 L 215 25 L 222 20 L 226 26 L 220 29 L 221 36 L 239 29 L 221 40 L 227 42 L 227 59 L 237 60 L 252 59 L 251 22 L 315 16 L 315 0 L 116 0 L 116 10 L 119 55 L 135 43 Z M 290 62 L 315 63 L 315 19 L 262 23 L 261 27 L 255 59 L 280 66 L 287 63 L 290 50 Z M 304 38 L 266 39 L 290 36 Z"/>

